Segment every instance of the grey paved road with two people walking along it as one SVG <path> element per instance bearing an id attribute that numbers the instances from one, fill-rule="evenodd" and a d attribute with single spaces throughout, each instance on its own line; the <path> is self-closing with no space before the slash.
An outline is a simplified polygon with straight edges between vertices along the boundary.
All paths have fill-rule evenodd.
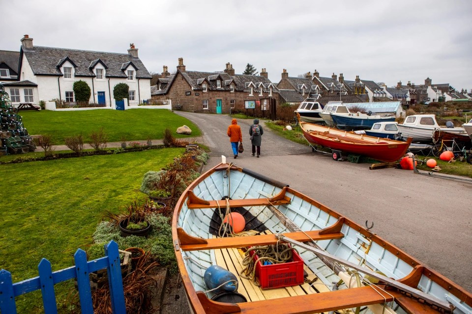
<path id="1" fill-rule="evenodd" d="M 226 135 L 231 117 L 177 113 L 203 131 L 204 143 L 212 150 L 206 169 L 219 163 L 221 155 L 229 156 L 238 166 L 290 184 L 361 225 L 374 222 L 373 232 L 472 291 L 471 183 L 334 161 L 268 128 L 264 128 L 261 157 L 252 157 L 248 134 L 252 120 L 238 120 L 246 145 L 235 160 Z"/>

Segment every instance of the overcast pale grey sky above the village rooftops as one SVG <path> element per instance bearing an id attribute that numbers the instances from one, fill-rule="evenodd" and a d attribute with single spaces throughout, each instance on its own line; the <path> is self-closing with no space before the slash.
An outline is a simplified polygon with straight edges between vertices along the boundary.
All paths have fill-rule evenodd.
<path id="1" fill-rule="evenodd" d="M 471 0 L 0 0 L 0 50 L 33 45 L 124 52 L 149 72 L 222 71 L 247 63 L 278 83 L 283 69 L 320 76 L 472 89 Z"/>

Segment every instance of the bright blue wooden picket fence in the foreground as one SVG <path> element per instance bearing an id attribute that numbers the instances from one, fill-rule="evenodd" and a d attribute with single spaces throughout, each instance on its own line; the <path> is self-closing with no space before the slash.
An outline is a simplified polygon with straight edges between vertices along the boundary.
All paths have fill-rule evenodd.
<path id="1" fill-rule="evenodd" d="M 89 274 L 107 268 L 112 311 L 114 314 L 126 314 L 118 244 L 115 241 L 110 241 L 105 245 L 105 257 L 89 262 L 87 262 L 85 251 L 78 249 L 74 254 L 74 261 L 75 266 L 52 272 L 51 262 L 42 259 L 38 265 L 38 277 L 15 284 L 12 283 L 9 271 L 0 270 L 0 313 L 17 314 L 15 297 L 34 290 L 41 290 L 44 313 L 57 314 L 54 285 L 76 278 L 82 314 L 93 314 Z"/>

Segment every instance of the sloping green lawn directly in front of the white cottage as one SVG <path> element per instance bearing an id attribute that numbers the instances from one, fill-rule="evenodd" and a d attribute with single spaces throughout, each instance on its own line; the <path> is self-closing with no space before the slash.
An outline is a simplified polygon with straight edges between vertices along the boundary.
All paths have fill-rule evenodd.
<path id="1" fill-rule="evenodd" d="M 119 142 L 124 136 L 126 141 L 161 139 L 169 128 L 175 137 L 189 135 L 176 133 L 178 127 L 188 126 L 190 136 L 200 136 L 201 132 L 188 119 L 166 109 L 129 109 L 129 110 L 84 110 L 84 111 L 20 111 L 23 125 L 29 134 L 51 134 L 54 144 L 64 144 L 64 137 L 82 132 L 88 142 L 89 134 L 101 127 L 108 135 L 109 142 Z"/>

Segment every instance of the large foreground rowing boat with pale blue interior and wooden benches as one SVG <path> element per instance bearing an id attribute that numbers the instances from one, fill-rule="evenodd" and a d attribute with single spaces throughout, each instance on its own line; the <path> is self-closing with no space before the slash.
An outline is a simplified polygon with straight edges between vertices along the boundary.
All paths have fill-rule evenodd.
<path id="1" fill-rule="evenodd" d="M 243 232 L 253 231 L 252 235 L 218 235 L 223 214 L 234 212 L 244 217 Z M 225 160 L 182 193 L 172 232 L 178 269 L 195 314 L 472 311 L 471 293 L 398 247 L 289 185 Z M 241 248 L 277 242 L 297 250 L 303 282 L 261 289 L 241 275 Z M 212 300 L 221 292 L 208 287 L 205 277 L 216 265 L 235 276 L 239 301 Z M 291 275 L 285 265 L 260 267 L 275 266 L 275 278 L 269 275 L 268 280 L 283 282 Z"/>

